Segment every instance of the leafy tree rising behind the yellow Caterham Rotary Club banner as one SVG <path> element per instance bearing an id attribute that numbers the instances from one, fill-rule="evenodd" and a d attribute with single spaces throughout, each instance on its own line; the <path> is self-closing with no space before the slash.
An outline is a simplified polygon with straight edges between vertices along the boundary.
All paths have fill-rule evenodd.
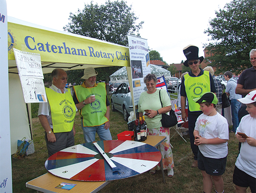
<path id="1" fill-rule="evenodd" d="M 93 2 L 84 5 L 83 10 L 77 14 L 70 13 L 65 31 L 97 38 L 100 40 L 128 45 L 127 35 L 139 36 L 139 29 L 144 21 L 136 25 L 138 17 L 132 11 L 132 6 L 127 6 L 124 1 L 106 1 L 105 5 L 94 5 Z"/>

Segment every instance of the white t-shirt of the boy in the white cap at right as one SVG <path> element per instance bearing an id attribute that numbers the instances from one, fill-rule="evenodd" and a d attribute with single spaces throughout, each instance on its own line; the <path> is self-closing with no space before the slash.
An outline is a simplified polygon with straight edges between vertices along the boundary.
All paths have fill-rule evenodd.
<path id="1" fill-rule="evenodd" d="M 245 115 L 237 128 L 237 132 L 245 133 L 248 137 L 256 139 L 256 118 Z M 236 132 L 236 134 L 237 134 Z M 236 166 L 246 174 L 256 178 L 256 147 L 242 142 Z"/>

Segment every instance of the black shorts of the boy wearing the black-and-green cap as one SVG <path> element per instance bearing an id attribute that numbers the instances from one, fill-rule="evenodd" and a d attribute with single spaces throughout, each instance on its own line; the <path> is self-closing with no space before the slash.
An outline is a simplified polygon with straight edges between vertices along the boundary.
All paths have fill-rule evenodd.
<path id="1" fill-rule="evenodd" d="M 206 174 L 221 176 L 225 172 L 227 157 L 220 159 L 208 158 L 204 157 L 200 150 L 198 150 L 197 160 L 199 170 L 205 171 Z"/>

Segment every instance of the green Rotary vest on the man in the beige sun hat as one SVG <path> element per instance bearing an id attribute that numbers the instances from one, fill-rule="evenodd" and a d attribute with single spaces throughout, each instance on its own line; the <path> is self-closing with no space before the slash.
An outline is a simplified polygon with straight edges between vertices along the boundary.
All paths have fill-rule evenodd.
<path id="1" fill-rule="evenodd" d="M 81 85 L 74 86 L 78 102 L 86 100 L 95 95 L 95 102 L 85 105 L 79 110 L 83 127 L 100 126 L 109 121 L 106 114 L 106 89 L 105 83 L 98 83 L 97 86 L 85 88 Z"/>

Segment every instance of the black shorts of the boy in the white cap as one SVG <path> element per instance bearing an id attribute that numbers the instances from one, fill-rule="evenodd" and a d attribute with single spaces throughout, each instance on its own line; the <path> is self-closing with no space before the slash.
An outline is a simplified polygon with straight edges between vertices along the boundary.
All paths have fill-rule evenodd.
<path id="1" fill-rule="evenodd" d="M 251 192 L 256 192 L 256 178 L 246 174 L 234 166 L 233 183 L 240 187 L 250 187 Z"/>

